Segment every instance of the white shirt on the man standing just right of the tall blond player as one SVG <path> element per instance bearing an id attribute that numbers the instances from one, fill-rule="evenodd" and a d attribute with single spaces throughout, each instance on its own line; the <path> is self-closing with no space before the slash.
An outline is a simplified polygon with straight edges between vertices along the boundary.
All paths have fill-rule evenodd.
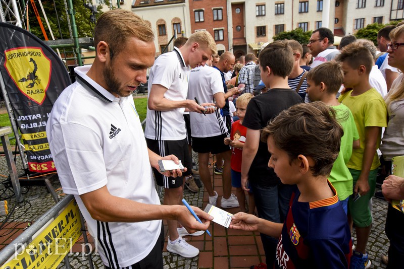
<path id="1" fill-rule="evenodd" d="M 222 76 L 219 70 L 208 66 L 199 66 L 189 74 L 188 99 L 196 97 L 200 103 L 214 103 L 214 95 L 223 93 Z M 217 109 L 213 114 L 190 113 L 191 133 L 195 138 L 220 136 L 227 132 L 224 117 Z"/>

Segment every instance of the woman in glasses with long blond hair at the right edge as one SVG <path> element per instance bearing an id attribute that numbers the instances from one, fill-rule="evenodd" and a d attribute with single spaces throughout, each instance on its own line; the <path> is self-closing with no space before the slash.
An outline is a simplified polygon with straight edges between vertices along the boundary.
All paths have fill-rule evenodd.
<path id="1" fill-rule="evenodd" d="M 387 104 L 388 124 L 382 139 L 380 150 L 386 167 L 391 168 L 391 159 L 404 155 L 404 25 L 394 28 L 390 32 L 391 43 L 387 44 L 388 64 L 397 68 L 401 73 L 394 80 L 390 91 L 384 97 Z M 397 188 L 398 189 L 398 188 Z M 391 201 L 393 193 L 385 193 Z M 402 268 L 404 260 L 404 214 L 388 205 L 385 232 L 390 240 L 388 249 L 387 268 Z"/>

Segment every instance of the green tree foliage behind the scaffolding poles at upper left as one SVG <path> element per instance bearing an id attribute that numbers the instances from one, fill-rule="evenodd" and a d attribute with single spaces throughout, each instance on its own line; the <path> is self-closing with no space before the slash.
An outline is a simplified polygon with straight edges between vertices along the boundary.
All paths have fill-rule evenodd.
<path id="1" fill-rule="evenodd" d="M 66 5 L 68 7 L 67 1 Z M 87 8 L 84 7 L 84 2 L 86 0 L 72 0 L 73 2 L 73 9 L 75 11 L 75 21 L 76 21 L 76 27 L 77 27 L 77 34 L 78 37 L 92 37 L 93 36 L 93 28 L 94 28 L 94 23 L 91 22 L 90 16 L 91 16 L 91 11 Z M 35 16 L 34 9 L 31 5 L 31 2 L 29 0 L 26 0 L 26 3 L 28 3 L 28 20 L 29 20 L 29 31 L 39 37 L 42 40 L 45 40 L 45 37 L 42 33 L 42 30 L 39 26 L 39 22 Z M 88 1 L 88 3 L 91 4 L 91 2 Z M 106 1 L 106 4 L 109 4 Z M 38 11 L 39 17 L 42 21 L 43 28 L 45 29 L 46 35 L 49 40 L 52 39 L 51 34 L 49 33 L 49 30 L 46 25 L 46 21 L 43 17 L 42 11 L 40 9 L 39 3 L 35 1 L 36 9 Z M 67 39 L 70 38 L 70 32 L 69 32 L 69 25 L 67 22 L 66 18 L 66 8 L 65 8 L 65 2 L 64 0 L 42 0 L 42 6 L 45 11 L 47 20 L 49 22 L 49 25 L 51 26 L 52 32 L 55 36 L 55 39 Z M 102 6 L 98 5 L 97 6 L 97 11 L 95 17 L 98 18 L 102 14 Z M 26 14 L 24 16 L 24 21 L 26 23 Z M 70 20 L 70 16 L 68 15 L 68 18 Z M 59 19 L 59 21 L 58 21 Z M 70 21 L 71 22 L 71 21 Z M 59 28 L 60 25 L 60 28 Z"/>

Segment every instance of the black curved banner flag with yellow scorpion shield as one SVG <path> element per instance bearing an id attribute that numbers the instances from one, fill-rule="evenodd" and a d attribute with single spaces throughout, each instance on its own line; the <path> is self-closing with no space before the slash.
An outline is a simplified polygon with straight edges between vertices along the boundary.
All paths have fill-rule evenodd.
<path id="1" fill-rule="evenodd" d="M 20 27 L 0 23 L 0 40 L 0 73 L 21 131 L 29 170 L 55 171 L 45 128 L 53 104 L 71 84 L 66 67 L 51 48 Z"/>

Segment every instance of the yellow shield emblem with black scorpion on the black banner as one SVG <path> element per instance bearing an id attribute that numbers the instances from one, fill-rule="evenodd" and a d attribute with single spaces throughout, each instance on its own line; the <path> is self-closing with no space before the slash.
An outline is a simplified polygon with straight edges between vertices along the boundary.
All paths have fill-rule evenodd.
<path id="1" fill-rule="evenodd" d="M 21 93 L 41 105 L 52 73 L 52 62 L 40 47 L 18 47 L 5 51 L 4 64 Z"/>

